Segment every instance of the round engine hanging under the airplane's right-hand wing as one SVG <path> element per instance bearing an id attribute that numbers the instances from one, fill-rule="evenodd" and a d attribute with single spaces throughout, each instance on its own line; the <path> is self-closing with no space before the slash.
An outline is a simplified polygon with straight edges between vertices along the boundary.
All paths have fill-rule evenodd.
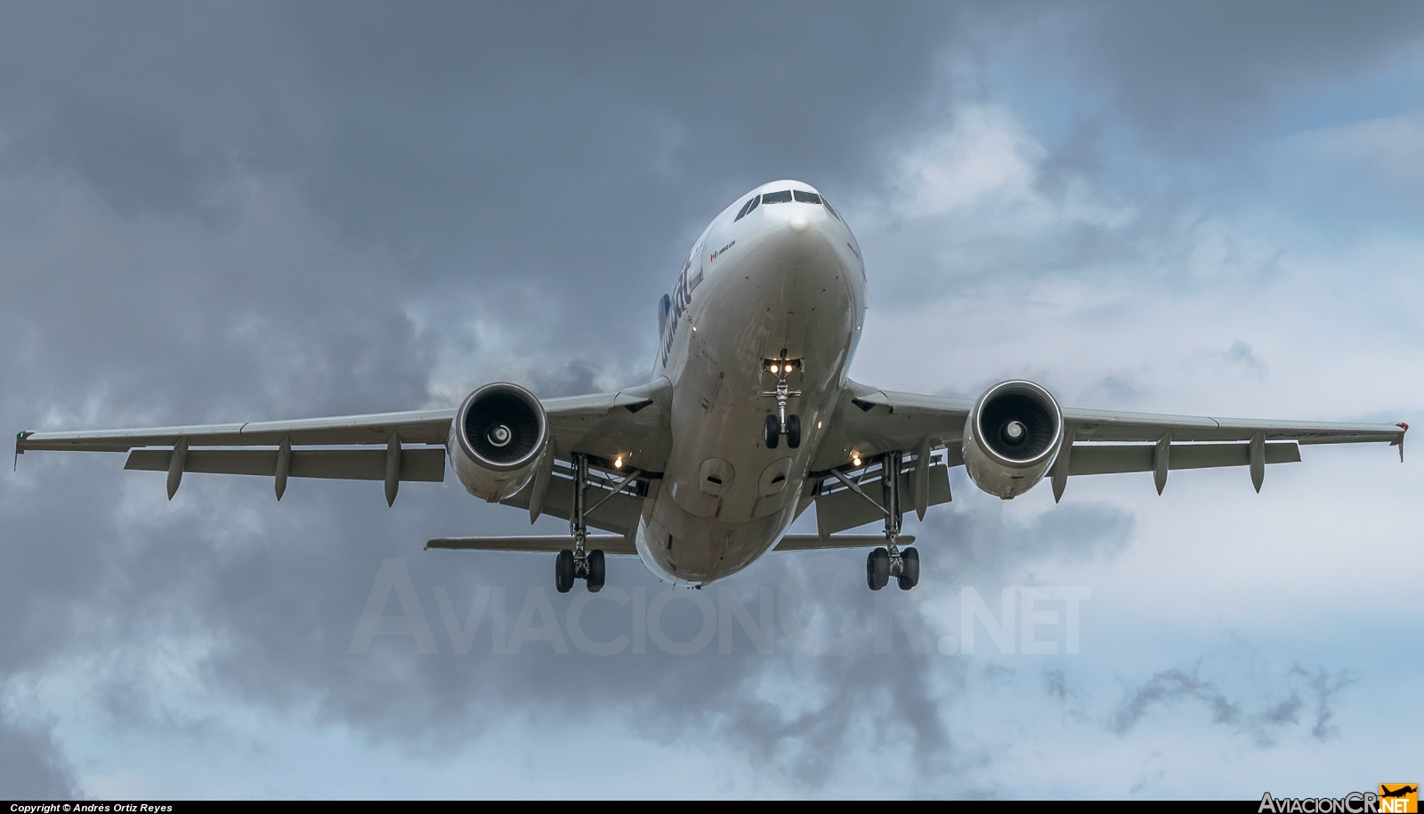
<path id="1" fill-rule="evenodd" d="M 964 423 L 964 468 L 974 485 L 1010 500 L 1031 490 L 1058 457 L 1064 416 L 1032 381 L 990 387 Z"/>

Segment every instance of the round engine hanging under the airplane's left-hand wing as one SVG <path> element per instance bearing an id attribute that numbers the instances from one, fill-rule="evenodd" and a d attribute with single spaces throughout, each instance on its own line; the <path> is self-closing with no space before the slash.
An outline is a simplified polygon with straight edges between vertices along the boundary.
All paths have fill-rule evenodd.
<path id="1" fill-rule="evenodd" d="M 486 384 L 460 404 L 446 451 L 466 491 L 490 502 L 523 490 L 548 445 L 548 416 L 518 384 Z"/>

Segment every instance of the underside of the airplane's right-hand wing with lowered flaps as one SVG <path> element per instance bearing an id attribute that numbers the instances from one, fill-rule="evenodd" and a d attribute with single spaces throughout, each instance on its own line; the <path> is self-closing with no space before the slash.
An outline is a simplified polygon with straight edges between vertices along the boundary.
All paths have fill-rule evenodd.
<path id="1" fill-rule="evenodd" d="M 1005 386 L 1011 386 L 1007 390 Z M 997 393 L 1012 398 L 995 403 Z M 1038 394 L 1038 396 L 1035 396 Z M 974 416 L 995 416 L 1015 423 L 1010 404 L 1040 398 L 1037 416 L 1042 441 L 1034 465 L 1012 460 L 994 447 L 1000 428 L 967 433 Z M 1032 410 L 1031 410 L 1032 411 Z M 984 421 L 993 423 L 990 418 Z M 1017 421 L 1018 431 L 1035 424 Z M 1246 467 L 1260 490 L 1266 464 L 1300 461 L 1300 444 L 1386 443 L 1404 455 L 1407 424 L 1262 421 L 1059 408 L 1041 387 L 1015 381 L 990 388 L 978 401 L 946 396 L 920 396 L 847 383 L 833 413 L 833 426 L 817 450 L 810 487 L 822 536 L 874 522 L 887 514 L 881 494 L 889 461 L 900 461 L 903 508 L 921 514 L 924 505 L 950 500 L 948 482 L 938 487 L 936 472 L 970 461 L 970 477 L 984 491 L 1010 498 L 1022 494 L 1045 474 L 1061 498 L 1069 475 L 1152 472 L 1158 492 L 1173 470 Z M 1025 435 L 1028 437 L 1028 435 Z M 968 440 L 967 440 L 968 438 Z M 988 441 L 985 441 L 988 438 Z M 1012 444 L 1014 438 L 1005 443 Z M 943 450 L 943 451 L 940 451 Z M 1008 455 L 1008 457 L 1005 457 Z M 978 467 L 975 467 L 978 464 Z M 918 480 L 918 484 L 917 484 Z"/>

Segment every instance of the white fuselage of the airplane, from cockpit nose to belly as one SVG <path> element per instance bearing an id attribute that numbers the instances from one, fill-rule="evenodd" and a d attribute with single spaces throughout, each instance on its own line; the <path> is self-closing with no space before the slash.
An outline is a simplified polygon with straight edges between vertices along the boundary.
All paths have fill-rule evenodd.
<path id="1" fill-rule="evenodd" d="M 678 585 L 731 576 L 786 534 L 844 386 L 866 309 L 864 265 L 826 205 L 753 195 L 816 192 L 778 181 L 742 195 L 693 245 L 666 307 L 654 380 L 672 383 L 672 451 L 638 524 L 642 561 Z M 800 359 L 787 414 L 799 448 L 768 448 L 769 359 Z M 718 482 L 721 481 L 721 482 Z"/>

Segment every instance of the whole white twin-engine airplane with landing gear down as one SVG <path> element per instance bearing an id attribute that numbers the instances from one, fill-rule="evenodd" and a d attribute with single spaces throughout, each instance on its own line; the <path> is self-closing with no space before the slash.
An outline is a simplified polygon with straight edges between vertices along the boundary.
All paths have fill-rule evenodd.
<path id="1" fill-rule="evenodd" d="M 847 377 L 866 314 L 866 268 L 844 218 L 813 186 L 773 181 L 739 196 L 693 243 L 658 303 L 646 384 L 537 398 L 491 383 L 454 410 L 103 431 L 23 431 L 36 450 L 124 451 L 125 470 L 384 481 L 443 481 L 471 495 L 570 521 L 567 536 L 440 538 L 427 549 L 554 554 L 554 583 L 604 586 L 605 555 L 637 555 L 664 581 L 701 588 L 770 551 L 871 548 L 866 583 L 920 579 L 906 511 L 948 502 L 948 470 L 1015 498 L 1047 478 L 1246 467 L 1300 445 L 1387 441 L 1400 424 L 1257 421 L 1059 407 L 1008 380 L 975 400 L 897 393 Z M 380 447 L 384 445 L 382 450 Z M 816 507 L 817 534 L 790 535 Z M 879 534 L 839 534 L 881 522 Z M 590 528 L 609 534 L 590 534 Z"/>

